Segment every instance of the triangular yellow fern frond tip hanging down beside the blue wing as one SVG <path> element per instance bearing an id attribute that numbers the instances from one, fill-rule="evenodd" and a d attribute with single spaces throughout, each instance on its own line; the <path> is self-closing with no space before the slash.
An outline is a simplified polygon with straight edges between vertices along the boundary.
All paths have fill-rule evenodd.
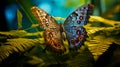
<path id="1" fill-rule="evenodd" d="M 94 59 L 97 60 L 112 44 L 114 39 L 105 38 L 104 36 L 95 36 L 93 39 L 89 39 L 85 42 L 88 49 L 93 54 Z"/>

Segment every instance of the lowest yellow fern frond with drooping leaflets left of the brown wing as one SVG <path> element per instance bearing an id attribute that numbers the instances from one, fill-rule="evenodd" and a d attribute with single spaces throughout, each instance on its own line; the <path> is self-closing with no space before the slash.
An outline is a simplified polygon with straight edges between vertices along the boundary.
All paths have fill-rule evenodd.
<path id="1" fill-rule="evenodd" d="M 16 38 L 8 39 L 5 44 L 0 46 L 0 62 L 14 52 L 25 52 L 36 44 L 42 44 L 44 39 Z"/>

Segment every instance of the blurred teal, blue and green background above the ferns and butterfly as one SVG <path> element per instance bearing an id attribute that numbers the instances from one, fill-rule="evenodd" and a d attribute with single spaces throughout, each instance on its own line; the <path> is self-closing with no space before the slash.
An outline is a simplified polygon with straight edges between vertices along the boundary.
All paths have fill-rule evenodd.
<path id="1" fill-rule="evenodd" d="M 23 14 L 23 29 L 35 23 L 30 8 L 38 6 L 51 16 L 67 18 L 83 4 L 95 6 L 93 15 L 120 21 L 120 0 L 0 0 L 0 31 L 17 29 L 17 10 Z"/>

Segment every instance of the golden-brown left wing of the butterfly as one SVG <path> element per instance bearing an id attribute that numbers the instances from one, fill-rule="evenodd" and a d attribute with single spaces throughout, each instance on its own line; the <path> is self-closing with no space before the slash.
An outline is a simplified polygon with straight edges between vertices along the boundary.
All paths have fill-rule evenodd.
<path id="1" fill-rule="evenodd" d="M 54 52 L 64 52 L 65 47 L 61 39 L 60 26 L 56 20 L 38 7 L 31 8 L 41 28 L 44 29 L 44 39 L 47 47 Z"/>

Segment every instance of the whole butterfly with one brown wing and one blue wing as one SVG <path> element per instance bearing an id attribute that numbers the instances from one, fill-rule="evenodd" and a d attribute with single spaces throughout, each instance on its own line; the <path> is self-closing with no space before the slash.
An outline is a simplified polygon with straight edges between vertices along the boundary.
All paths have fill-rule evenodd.
<path id="1" fill-rule="evenodd" d="M 31 11 L 40 27 L 44 29 L 46 47 L 53 52 L 65 52 L 66 48 L 62 42 L 63 32 L 66 34 L 69 50 L 78 50 L 87 37 L 83 26 L 87 24 L 93 8 L 92 4 L 79 7 L 66 18 L 62 25 L 59 25 L 52 16 L 36 6 L 33 6 Z"/>

